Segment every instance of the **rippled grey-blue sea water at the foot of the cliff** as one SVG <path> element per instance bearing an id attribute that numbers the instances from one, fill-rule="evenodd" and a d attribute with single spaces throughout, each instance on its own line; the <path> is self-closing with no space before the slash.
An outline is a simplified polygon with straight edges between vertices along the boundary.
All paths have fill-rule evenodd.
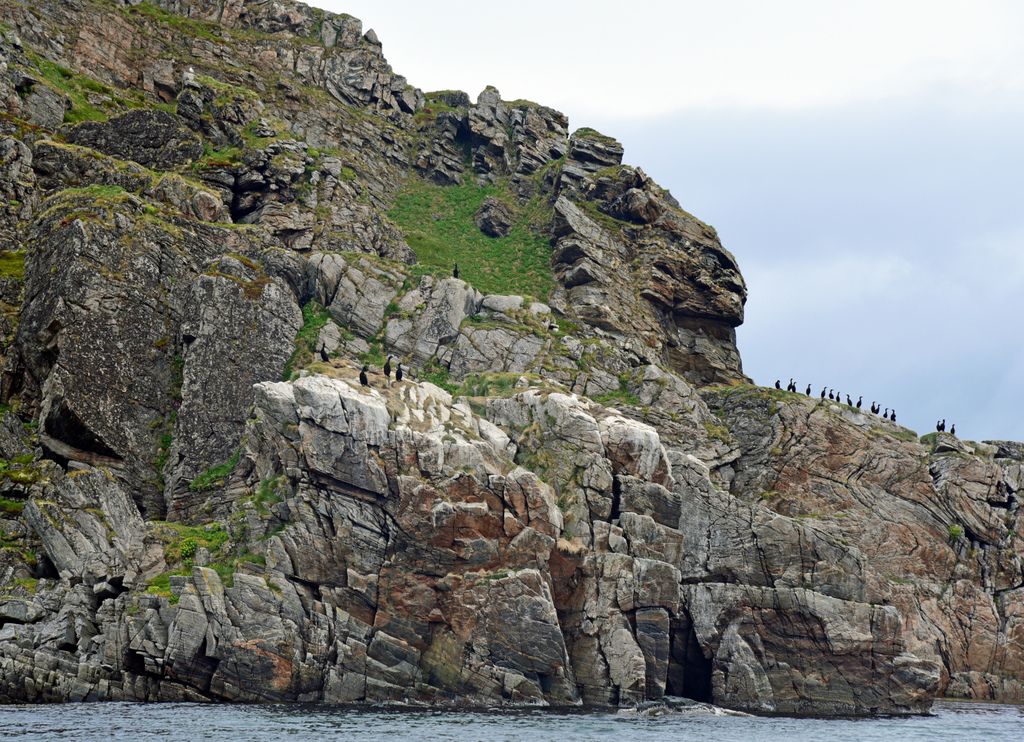
<path id="1" fill-rule="evenodd" d="M 612 711 L 440 711 L 294 705 L 0 705 L 0 740 L 1024 740 L 1024 706 L 936 703 L 928 716 L 819 719 Z"/>

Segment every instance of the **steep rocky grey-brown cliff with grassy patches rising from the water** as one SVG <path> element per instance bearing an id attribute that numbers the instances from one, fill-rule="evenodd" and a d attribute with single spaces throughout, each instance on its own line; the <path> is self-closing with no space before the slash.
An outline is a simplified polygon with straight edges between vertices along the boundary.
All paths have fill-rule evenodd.
<path id="1" fill-rule="evenodd" d="M 1024 700 L 1024 446 L 751 386 L 614 139 L 287 0 L 0 10 L 0 699 Z"/>

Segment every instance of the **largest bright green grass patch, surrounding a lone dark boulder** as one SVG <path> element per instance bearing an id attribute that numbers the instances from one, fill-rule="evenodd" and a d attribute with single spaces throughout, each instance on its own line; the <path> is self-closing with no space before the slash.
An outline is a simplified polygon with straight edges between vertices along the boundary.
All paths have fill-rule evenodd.
<path id="1" fill-rule="evenodd" d="M 461 277 L 484 294 L 546 299 L 554 287 L 551 247 L 539 226 L 550 212 L 540 200 L 513 206 L 516 218 L 509 235 L 488 237 L 473 219 L 488 195 L 515 205 L 498 185 L 437 185 L 410 177 L 388 216 L 427 272 L 447 276 L 458 263 Z"/>

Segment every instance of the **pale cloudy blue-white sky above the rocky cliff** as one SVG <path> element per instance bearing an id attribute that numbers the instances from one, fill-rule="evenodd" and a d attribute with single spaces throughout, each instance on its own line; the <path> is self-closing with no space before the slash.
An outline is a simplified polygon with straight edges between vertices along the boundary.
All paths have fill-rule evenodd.
<path id="1" fill-rule="evenodd" d="M 736 256 L 755 382 L 1024 440 L 1024 3 L 313 4 L 620 139 Z"/>

